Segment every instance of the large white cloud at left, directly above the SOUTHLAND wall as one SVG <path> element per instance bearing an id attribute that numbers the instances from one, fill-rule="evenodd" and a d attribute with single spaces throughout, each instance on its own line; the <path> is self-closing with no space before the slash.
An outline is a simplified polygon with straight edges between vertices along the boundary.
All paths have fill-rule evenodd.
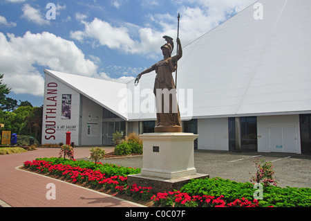
<path id="1" fill-rule="evenodd" d="M 0 33 L 0 70 L 4 73 L 3 82 L 16 94 L 43 96 L 42 70 L 38 71 L 34 64 L 84 76 L 97 73 L 94 62 L 84 58 L 84 53 L 71 41 L 47 32 L 7 36 Z"/>

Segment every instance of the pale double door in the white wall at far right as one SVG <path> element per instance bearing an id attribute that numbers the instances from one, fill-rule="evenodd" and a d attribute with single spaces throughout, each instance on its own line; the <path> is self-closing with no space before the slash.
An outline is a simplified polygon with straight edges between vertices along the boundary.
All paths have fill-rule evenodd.
<path id="1" fill-rule="evenodd" d="M 271 152 L 297 151 L 296 125 L 270 125 L 269 136 Z"/>

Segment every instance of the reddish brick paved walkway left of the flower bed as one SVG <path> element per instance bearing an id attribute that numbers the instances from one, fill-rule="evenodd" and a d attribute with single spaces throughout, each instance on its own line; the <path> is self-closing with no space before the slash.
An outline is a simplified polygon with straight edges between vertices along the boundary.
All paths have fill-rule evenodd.
<path id="1" fill-rule="evenodd" d="M 105 148 L 106 152 L 112 150 Z M 12 207 L 137 207 L 139 204 L 120 200 L 75 184 L 19 170 L 24 161 L 37 157 L 58 157 L 59 149 L 41 148 L 19 154 L 0 155 L 0 206 Z M 75 158 L 88 157 L 89 148 L 75 148 Z M 56 188 L 56 200 L 47 200 L 47 184 Z"/>

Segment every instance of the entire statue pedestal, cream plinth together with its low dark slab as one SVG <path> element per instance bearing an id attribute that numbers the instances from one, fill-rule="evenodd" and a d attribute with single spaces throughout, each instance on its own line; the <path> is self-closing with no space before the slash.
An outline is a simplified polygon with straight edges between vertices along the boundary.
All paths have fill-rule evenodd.
<path id="1" fill-rule="evenodd" d="M 196 173 L 194 168 L 194 140 L 191 133 L 150 133 L 140 135 L 143 141 L 142 170 L 129 175 L 128 182 L 152 186 L 157 191 L 173 191 L 190 179 L 209 177 Z M 181 187 L 181 186 L 180 186 Z"/>

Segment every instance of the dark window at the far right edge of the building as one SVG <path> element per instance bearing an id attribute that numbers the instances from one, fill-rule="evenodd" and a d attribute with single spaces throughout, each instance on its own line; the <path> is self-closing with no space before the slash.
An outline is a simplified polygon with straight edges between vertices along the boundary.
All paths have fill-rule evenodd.
<path id="1" fill-rule="evenodd" d="M 311 154 L 311 114 L 301 114 L 299 118 L 301 153 Z"/>

